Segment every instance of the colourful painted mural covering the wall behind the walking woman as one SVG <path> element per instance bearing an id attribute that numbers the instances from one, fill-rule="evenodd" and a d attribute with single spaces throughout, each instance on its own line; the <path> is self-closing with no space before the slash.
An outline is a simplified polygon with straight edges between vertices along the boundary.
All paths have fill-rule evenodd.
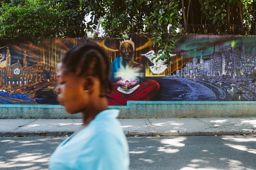
<path id="1" fill-rule="evenodd" d="M 256 100 L 253 36 L 177 35 L 168 60 L 156 62 L 150 35 L 127 39 L 0 41 L 0 104 L 58 104 L 57 64 L 70 48 L 97 44 L 111 63 L 109 105 L 127 101 Z M 255 44 L 256 45 L 256 44 Z M 75 60 L 75 58 L 74 58 Z M 255 87 L 254 87 L 255 86 Z"/>

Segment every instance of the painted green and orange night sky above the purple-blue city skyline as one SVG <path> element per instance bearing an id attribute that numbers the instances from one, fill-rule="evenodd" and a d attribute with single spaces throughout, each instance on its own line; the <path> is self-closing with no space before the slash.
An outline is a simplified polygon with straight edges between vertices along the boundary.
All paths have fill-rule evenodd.
<path id="1" fill-rule="evenodd" d="M 171 72 L 184 67 L 184 64 L 191 62 L 195 57 L 200 59 L 201 50 L 202 58 L 209 60 L 209 55 L 213 53 L 213 47 L 215 44 L 215 51 L 217 53 L 223 51 L 227 54 L 230 51 L 231 45 L 235 47 L 235 50 L 240 57 L 242 48 L 242 42 L 244 41 L 246 55 L 251 54 L 253 41 L 256 43 L 256 37 L 252 36 L 220 36 L 220 35 L 177 35 L 174 54 L 177 54 L 173 58 L 171 64 Z M 256 45 L 256 44 L 255 44 Z M 178 61 L 178 63 L 177 63 Z M 183 61 L 183 62 L 182 62 Z"/>

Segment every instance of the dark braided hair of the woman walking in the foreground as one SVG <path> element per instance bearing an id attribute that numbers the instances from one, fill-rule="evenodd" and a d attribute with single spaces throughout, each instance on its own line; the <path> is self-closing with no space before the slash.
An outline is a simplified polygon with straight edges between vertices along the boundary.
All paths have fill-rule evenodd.
<path id="1" fill-rule="evenodd" d="M 94 76 L 100 80 L 100 97 L 112 92 L 110 64 L 102 48 L 85 44 L 70 49 L 61 60 L 62 66 L 78 76 Z"/>

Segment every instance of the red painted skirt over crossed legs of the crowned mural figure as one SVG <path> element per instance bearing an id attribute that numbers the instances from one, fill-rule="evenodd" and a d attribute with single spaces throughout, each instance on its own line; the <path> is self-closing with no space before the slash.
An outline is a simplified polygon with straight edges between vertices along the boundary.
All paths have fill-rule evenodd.
<path id="1" fill-rule="evenodd" d="M 113 92 L 107 95 L 108 104 L 110 106 L 123 106 L 127 104 L 127 101 L 132 100 L 150 100 L 152 99 L 159 89 L 159 84 L 155 80 L 148 79 L 142 82 L 140 86 L 130 94 L 124 94 L 117 90 L 116 83 L 112 83 Z"/>

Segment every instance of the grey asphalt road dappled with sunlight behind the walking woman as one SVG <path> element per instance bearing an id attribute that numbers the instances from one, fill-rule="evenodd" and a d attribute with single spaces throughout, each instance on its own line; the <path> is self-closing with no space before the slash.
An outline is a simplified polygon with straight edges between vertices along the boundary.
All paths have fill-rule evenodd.
<path id="1" fill-rule="evenodd" d="M 0 138 L 0 169 L 48 169 L 64 137 Z M 130 169 L 256 169 L 256 136 L 128 137 Z"/>

